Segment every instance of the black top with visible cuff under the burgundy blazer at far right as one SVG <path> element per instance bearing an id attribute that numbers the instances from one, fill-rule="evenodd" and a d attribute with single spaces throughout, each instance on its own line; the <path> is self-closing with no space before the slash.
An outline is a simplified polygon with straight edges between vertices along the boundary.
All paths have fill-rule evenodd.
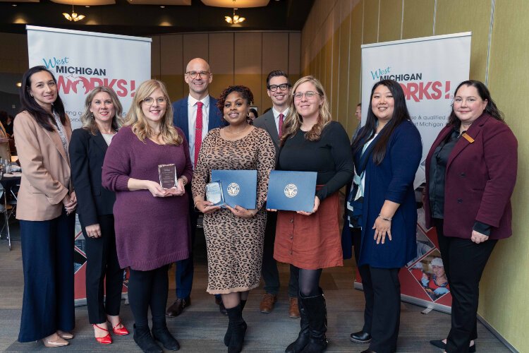
<path id="1" fill-rule="evenodd" d="M 463 131 L 464 133 L 465 131 Z M 446 139 L 439 143 L 432 155 L 430 165 L 430 210 L 433 218 L 444 219 L 444 184 L 446 181 L 446 164 L 457 141 L 463 133 L 454 128 Z M 490 225 L 476 221 L 473 229 L 485 235 L 490 235 Z"/>

